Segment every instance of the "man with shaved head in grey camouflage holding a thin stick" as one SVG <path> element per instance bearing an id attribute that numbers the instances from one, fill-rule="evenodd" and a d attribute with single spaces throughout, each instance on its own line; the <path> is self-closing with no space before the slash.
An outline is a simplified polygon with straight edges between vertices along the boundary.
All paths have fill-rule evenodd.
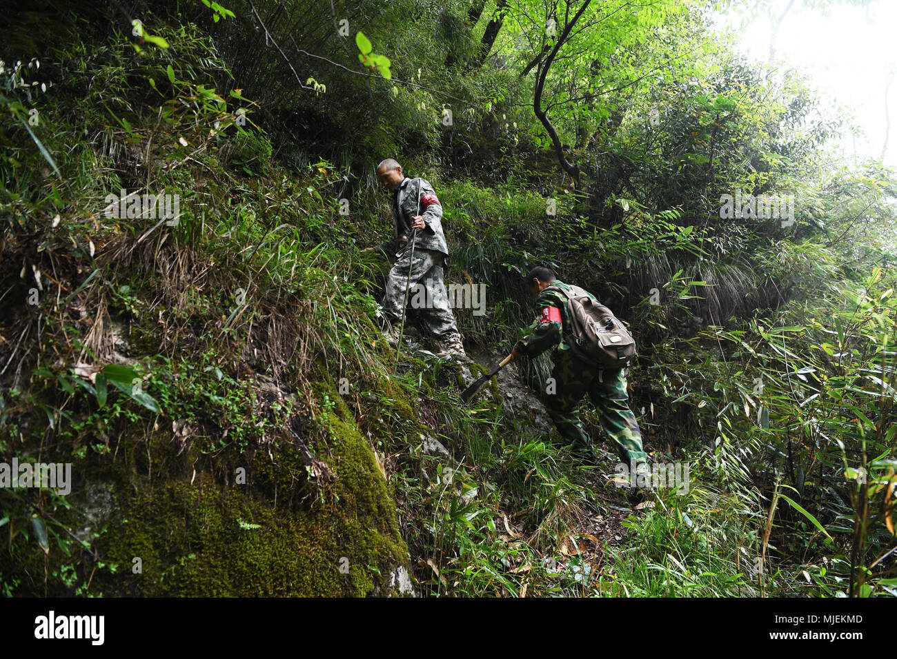
<path id="1" fill-rule="evenodd" d="M 407 178 L 402 166 L 392 158 L 380 162 L 377 178 L 393 193 L 393 239 L 381 246 L 390 260 L 396 257 L 381 304 L 381 312 L 390 324 L 387 339 L 389 343 L 398 344 L 405 290 L 410 290 L 409 306 L 429 328 L 440 347 L 440 356 L 466 360 L 464 343 L 442 281 L 443 264 L 448 256 L 448 245 L 442 232 L 442 204 L 428 181 Z M 413 240 L 414 261 L 411 254 Z"/>

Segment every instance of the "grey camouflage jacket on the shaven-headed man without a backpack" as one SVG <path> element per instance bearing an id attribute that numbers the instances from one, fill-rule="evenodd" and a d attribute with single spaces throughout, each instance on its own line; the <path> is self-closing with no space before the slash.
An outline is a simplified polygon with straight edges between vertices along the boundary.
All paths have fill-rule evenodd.
<path id="1" fill-rule="evenodd" d="M 420 195 L 420 212 L 418 212 Z M 442 232 L 442 204 L 429 181 L 407 178 L 393 190 L 393 239 L 380 248 L 390 256 L 399 256 L 411 247 L 411 223 L 414 215 L 422 215 L 424 229 L 417 231 L 414 249 L 432 249 L 448 256 L 448 244 Z"/>

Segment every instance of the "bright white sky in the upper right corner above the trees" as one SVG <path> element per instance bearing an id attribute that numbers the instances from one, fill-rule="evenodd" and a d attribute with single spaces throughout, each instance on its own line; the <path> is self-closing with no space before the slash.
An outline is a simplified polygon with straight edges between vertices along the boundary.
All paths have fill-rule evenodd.
<path id="1" fill-rule="evenodd" d="M 897 69 L 897 0 L 875 0 L 867 10 L 840 6 L 828 15 L 803 9 L 797 0 L 786 16 L 776 41 L 776 57 L 807 74 L 810 80 L 853 114 L 862 130 L 857 136 L 858 158 L 878 158 L 884 143 L 884 85 L 888 71 Z M 777 0 L 780 14 L 788 0 Z M 737 30 L 736 16 L 719 22 L 722 30 Z M 769 61 L 771 22 L 755 18 L 734 39 L 746 56 Z M 888 93 L 891 134 L 885 164 L 897 166 L 897 78 Z M 853 141 L 845 134 L 845 152 L 852 156 Z"/>

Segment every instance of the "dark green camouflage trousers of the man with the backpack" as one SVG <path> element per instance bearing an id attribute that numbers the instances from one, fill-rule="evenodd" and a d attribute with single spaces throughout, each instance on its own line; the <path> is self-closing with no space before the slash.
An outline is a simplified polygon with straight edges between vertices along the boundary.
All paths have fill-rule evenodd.
<path id="1" fill-rule="evenodd" d="M 579 360 L 570 351 L 556 351 L 553 381 L 545 387 L 545 408 L 558 432 L 574 447 L 591 449 L 592 440 L 576 414 L 584 395 L 597 408 L 601 427 L 614 443 L 617 455 L 625 464 L 647 461 L 641 446 L 641 431 L 635 414 L 629 408 L 625 369 L 596 369 Z"/>

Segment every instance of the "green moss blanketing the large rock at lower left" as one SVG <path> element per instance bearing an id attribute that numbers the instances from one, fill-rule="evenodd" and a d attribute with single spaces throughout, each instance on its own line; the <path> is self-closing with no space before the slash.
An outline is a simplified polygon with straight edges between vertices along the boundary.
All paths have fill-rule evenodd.
<path id="1" fill-rule="evenodd" d="M 257 457 L 251 490 L 232 478 L 224 487 L 208 472 L 192 484 L 184 477 L 144 485 L 100 542 L 104 559 L 125 571 L 98 586 L 152 596 L 359 596 L 382 588 L 407 556 L 395 502 L 354 421 L 327 412 L 321 421 L 332 483 L 312 486 L 298 454 L 282 447 L 274 461 Z M 131 570 L 135 557 L 141 574 Z"/>

